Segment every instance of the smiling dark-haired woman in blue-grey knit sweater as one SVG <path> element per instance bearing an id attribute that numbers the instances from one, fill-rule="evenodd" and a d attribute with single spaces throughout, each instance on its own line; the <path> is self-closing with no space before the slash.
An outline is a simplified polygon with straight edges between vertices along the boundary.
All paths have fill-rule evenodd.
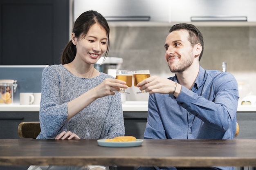
<path id="1" fill-rule="evenodd" d="M 126 82 L 97 71 L 109 49 L 109 26 L 97 11 L 77 18 L 60 65 L 42 75 L 41 132 L 37 139 L 107 139 L 124 136 L 119 93 Z"/>

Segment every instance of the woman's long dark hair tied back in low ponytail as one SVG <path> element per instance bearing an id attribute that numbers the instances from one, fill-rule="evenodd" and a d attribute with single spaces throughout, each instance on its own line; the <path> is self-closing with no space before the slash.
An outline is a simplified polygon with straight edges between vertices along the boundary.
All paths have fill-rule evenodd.
<path id="1" fill-rule="evenodd" d="M 77 38 L 79 38 L 81 35 L 86 35 L 90 29 L 90 27 L 98 23 L 102 26 L 103 29 L 106 30 L 107 36 L 108 36 L 108 47 L 106 50 L 106 55 L 108 55 L 109 50 L 109 26 L 107 20 L 97 11 L 86 11 L 82 13 L 74 23 L 73 27 L 73 33 Z M 76 46 L 70 42 L 68 42 L 67 46 L 65 47 L 62 55 L 61 55 L 61 64 L 68 64 L 74 60 L 76 56 Z"/>

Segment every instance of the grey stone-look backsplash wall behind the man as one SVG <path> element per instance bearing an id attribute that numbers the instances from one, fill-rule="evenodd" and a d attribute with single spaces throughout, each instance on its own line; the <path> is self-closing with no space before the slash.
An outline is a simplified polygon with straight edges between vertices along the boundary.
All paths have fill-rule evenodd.
<path id="1" fill-rule="evenodd" d="M 112 26 L 110 27 L 110 51 L 108 56 L 122 57 L 122 69 L 150 69 L 150 75 L 170 77 L 164 59 L 164 43 L 167 26 Z M 239 84 L 249 84 L 251 94 L 256 95 L 256 26 L 199 26 L 204 36 L 204 53 L 200 65 L 204 69 L 222 70 L 234 74 Z M 147 100 L 147 95 L 135 93 L 132 87 L 128 100 Z"/>

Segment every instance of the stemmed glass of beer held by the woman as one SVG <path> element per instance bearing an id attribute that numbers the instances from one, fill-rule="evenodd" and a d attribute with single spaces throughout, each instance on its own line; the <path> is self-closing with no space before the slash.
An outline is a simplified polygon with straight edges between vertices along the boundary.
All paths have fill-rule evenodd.
<path id="1" fill-rule="evenodd" d="M 116 79 L 125 81 L 125 82 L 126 82 L 126 85 L 127 85 L 128 87 L 131 87 L 131 86 L 132 86 L 132 71 L 128 71 L 128 70 L 117 70 Z M 115 91 L 115 92 L 130 94 L 130 93 L 128 93 L 128 92 L 126 91 L 125 88 L 120 88 L 120 91 Z"/>

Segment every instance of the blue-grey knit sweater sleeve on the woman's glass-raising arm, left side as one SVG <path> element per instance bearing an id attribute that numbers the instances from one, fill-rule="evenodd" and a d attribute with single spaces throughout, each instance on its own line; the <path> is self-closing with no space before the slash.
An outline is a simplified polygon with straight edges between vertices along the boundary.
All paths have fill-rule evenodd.
<path id="1" fill-rule="evenodd" d="M 52 139 L 62 130 L 67 120 L 67 103 L 60 104 L 59 83 L 61 77 L 52 67 L 42 74 L 42 97 L 39 111 L 42 139 Z M 63 127 L 63 128 L 62 128 Z"/>

